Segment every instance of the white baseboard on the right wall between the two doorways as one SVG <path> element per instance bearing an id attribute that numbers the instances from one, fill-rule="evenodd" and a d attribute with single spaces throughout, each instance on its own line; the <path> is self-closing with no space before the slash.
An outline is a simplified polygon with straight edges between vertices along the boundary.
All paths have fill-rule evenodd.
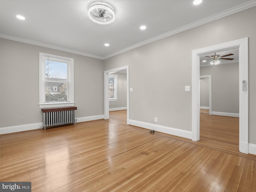
<path id="1" fill-rule="evenodd" d="M 179 137 L 184 137 L 191 139 L 192 138 L 192 132 L 191 131 L 185 131 L 181 129 L 176 129 L 176 128 L 171 128 L 171 127 L 166 127 L 162 125 L 156 125 L 156 124 L 151 124 L 151 123 L 145 123 L 145 122 L 140 122 L 136 120 L 129 120 L 130 125 L 146 128 L 149 130 L 155 130 L 159 131 L 162 133 L 170 134 L 170 135 L 175 135 Z"/>

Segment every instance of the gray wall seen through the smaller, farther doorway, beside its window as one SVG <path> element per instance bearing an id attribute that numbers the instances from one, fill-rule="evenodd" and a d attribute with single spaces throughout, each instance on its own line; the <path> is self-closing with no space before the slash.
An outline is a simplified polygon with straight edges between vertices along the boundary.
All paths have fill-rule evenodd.
<path id="1" fill-rule="evenodd" d="M 117 75 L 117 101 L 110 101 L 109 108 L 120 108 L 127 106 L 126 74 L 113 73 Z"/>

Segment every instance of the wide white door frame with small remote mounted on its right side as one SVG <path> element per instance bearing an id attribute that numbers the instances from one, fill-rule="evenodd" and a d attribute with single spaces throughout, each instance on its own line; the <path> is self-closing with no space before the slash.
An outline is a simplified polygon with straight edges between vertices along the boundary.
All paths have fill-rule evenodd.
<path id="1" fill-rule="evenodd" d="M 192 140 L 200 140 L 199 57 L 233 48 L 239 48 L 239 151 L 248 154 L 248 37 L 192 51 Z M 242 80 L 246 80 L 246 91 L 242 91 Z"/>

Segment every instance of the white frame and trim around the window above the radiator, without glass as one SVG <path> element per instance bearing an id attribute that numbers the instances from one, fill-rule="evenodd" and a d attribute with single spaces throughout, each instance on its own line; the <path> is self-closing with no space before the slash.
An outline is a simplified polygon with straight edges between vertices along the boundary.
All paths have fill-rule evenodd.
<path id="1" fill-rule="evenodd" d="M 68 74 L 67 74 L 69 92 L 67 95 L 68 101 L 66 102 L 45 102 L 45 64 L 44 64 L 45 57 L 63 60 L 69 63 Z M 67 58 L 67 57 L 39 52 L 39 104 L 38 105 L 40 108 L 74 106 L 74 59 L 73 58 Z"/>

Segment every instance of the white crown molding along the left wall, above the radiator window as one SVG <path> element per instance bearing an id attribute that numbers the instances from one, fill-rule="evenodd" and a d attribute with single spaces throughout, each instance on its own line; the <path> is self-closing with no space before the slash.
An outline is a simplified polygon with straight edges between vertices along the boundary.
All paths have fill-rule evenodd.
<path id="1" fill-rule="evenodd" d="M 10 36 L 10 35 L 6 35 L 6 34 L 2 34 L 2 33 L 0 33 L 0 38 L 13 40 L 13 41 L 18 41 L 18 42 L 27 43 L 27 44 L 32 44 L 32 45 L 37 45 L 37 46 L 42 46 L 42 47 L 51 48 L 51 49 L 55 49 L 55 50 L 59 50 L 59 51 L 64 51 L 64 52 L 74 53 L 74 54 L 78 54 L 78 55 L 83 55 L 83 56 L 87 56 L 87 57 L 103 59 L 102 57 L 100 57 L 98 55 L 93 55 L 93 54 L 80 52 L 80 51 L 72 50 L 72 49 L 67 49 L 67 48 L 63 48 L 63 47 L 59 47 L 59 46 L 54 46 L 54 45 L 51 45 L 51 44 L 41 43 L 41 42 L 37 42 L 37 41 L 32 41 L 32 40 L 29 40 L 29 39 Z"/>

